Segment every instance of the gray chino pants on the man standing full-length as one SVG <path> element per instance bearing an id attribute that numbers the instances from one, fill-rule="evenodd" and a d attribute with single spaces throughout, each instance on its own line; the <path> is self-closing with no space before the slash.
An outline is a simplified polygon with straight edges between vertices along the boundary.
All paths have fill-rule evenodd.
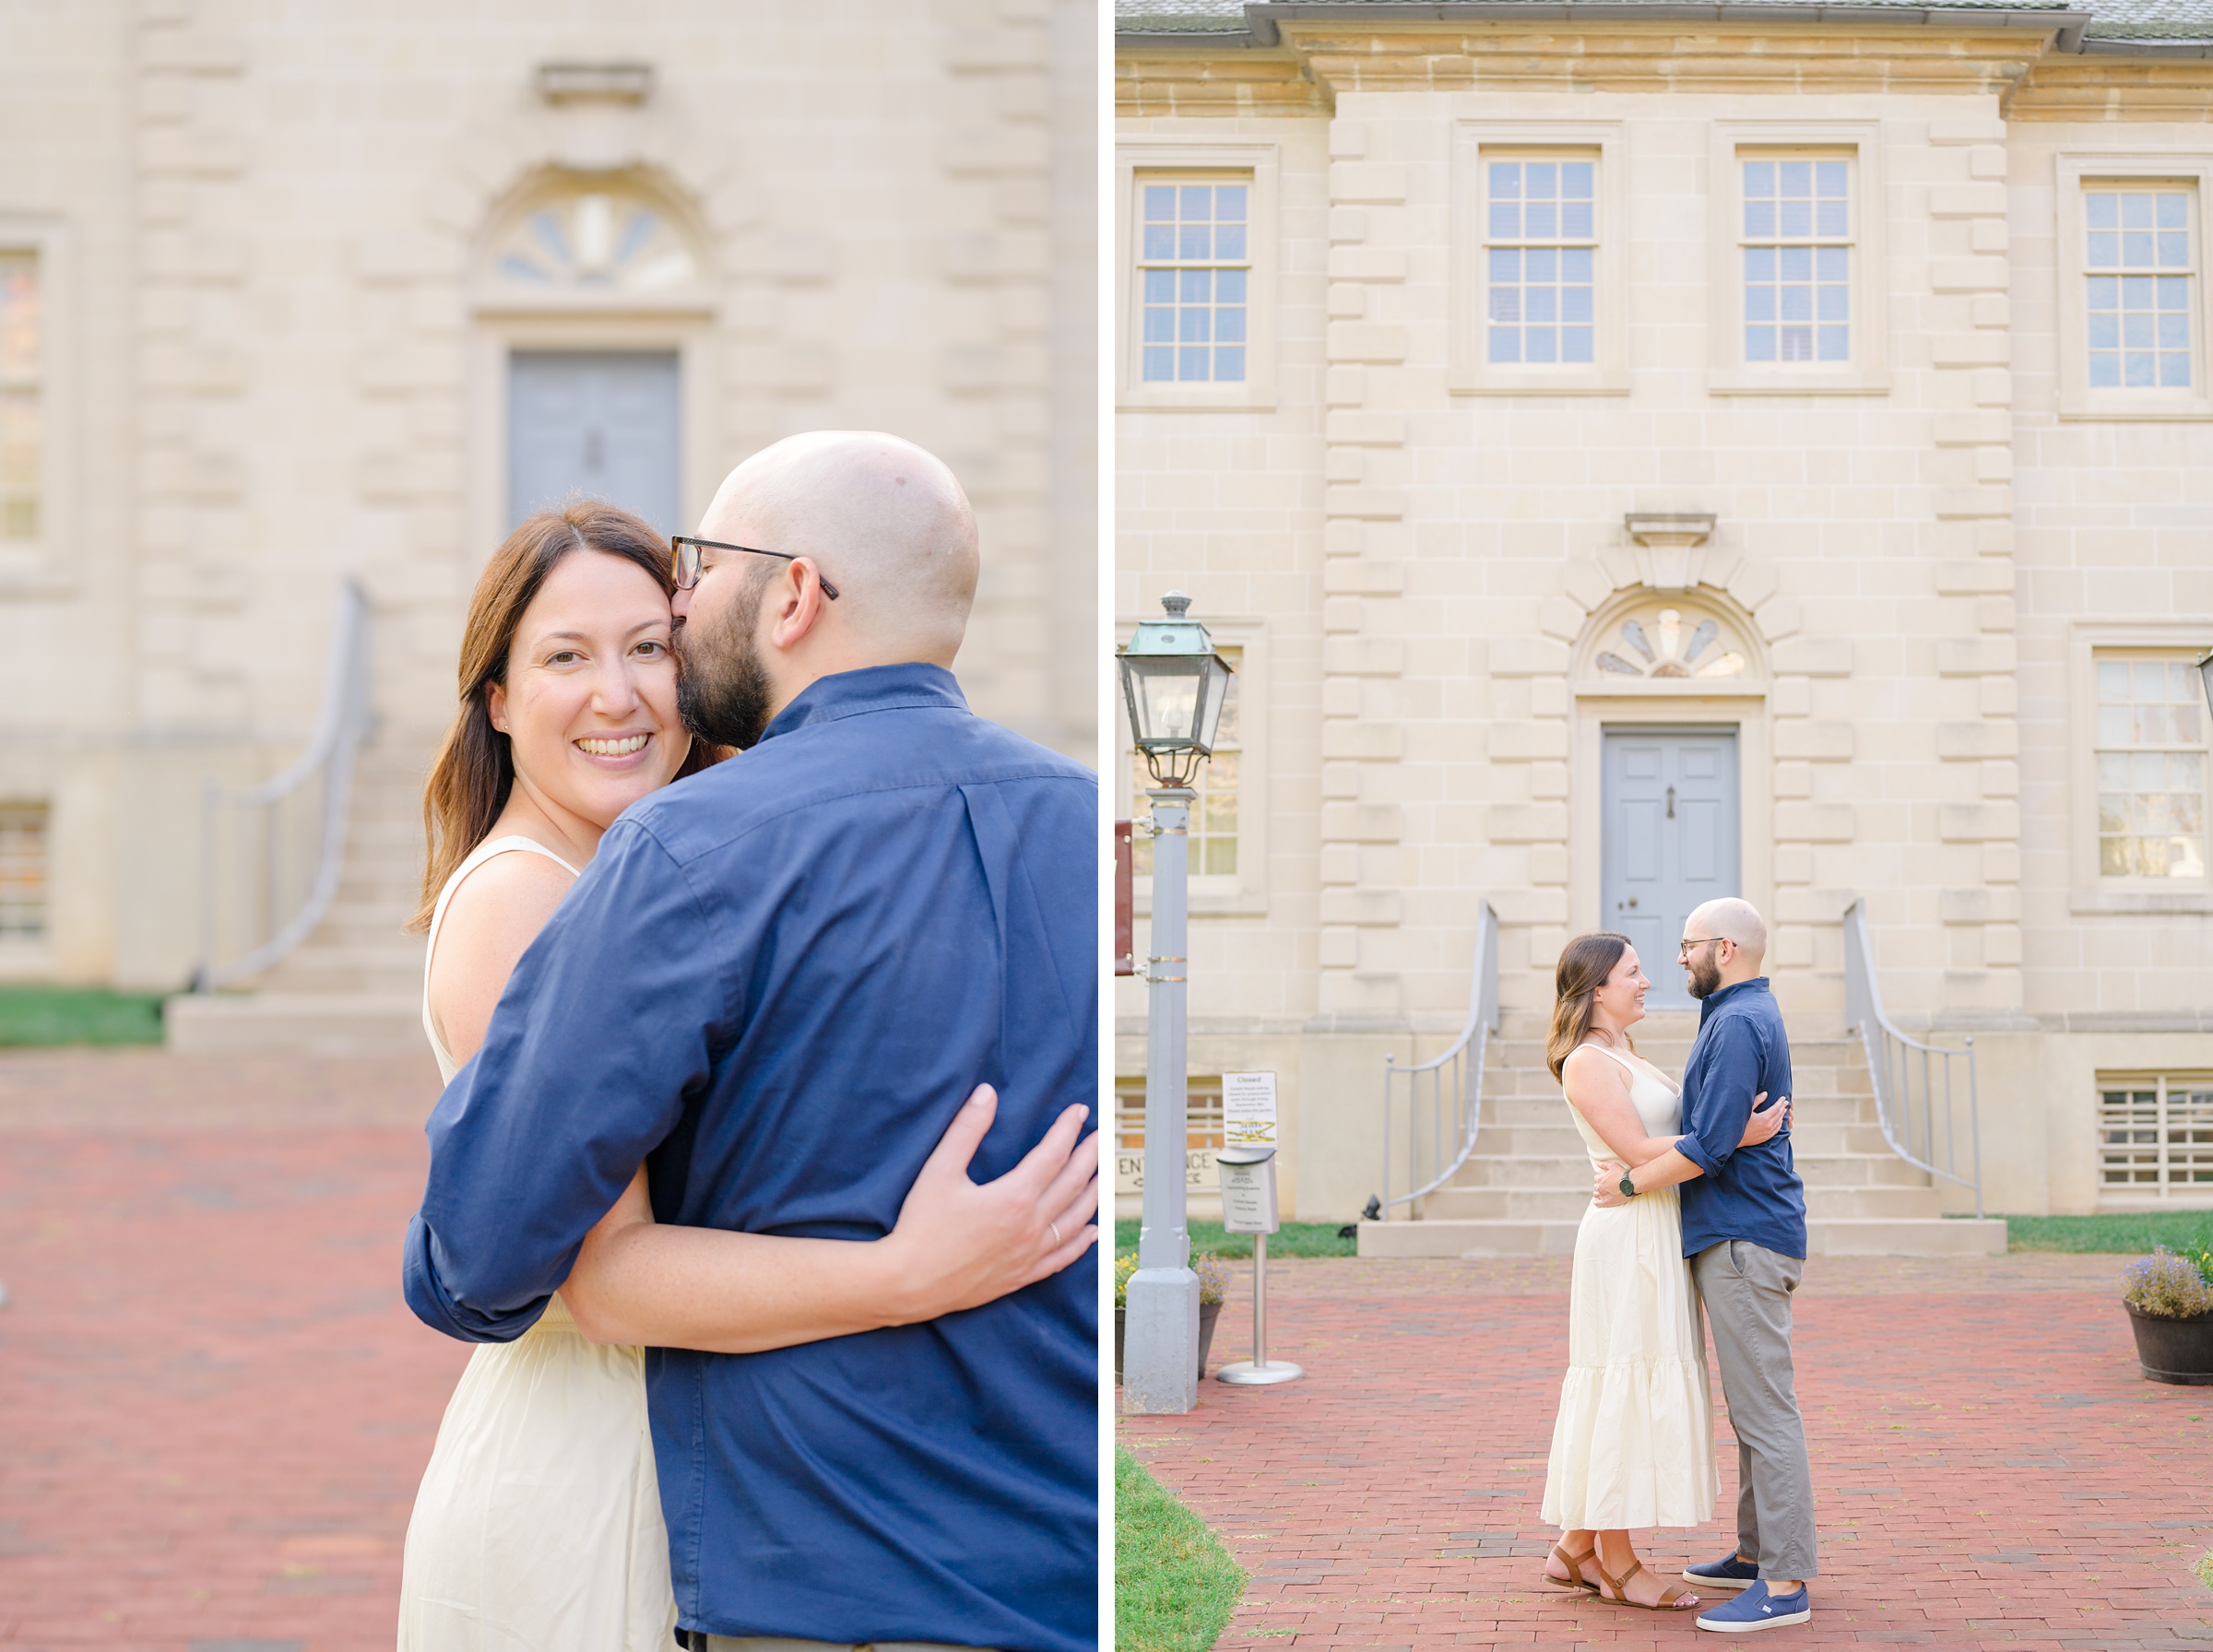
<path id="1" fill-rule="evenodd" d="M 1691 1258 L 1737 1433 L 1737 1552 L 1762 1577 L 1815 1577 L 1812 1464 L 1790 1376 L 1790 1292 L 1806 1269 L 1748 1238 Z"/>

